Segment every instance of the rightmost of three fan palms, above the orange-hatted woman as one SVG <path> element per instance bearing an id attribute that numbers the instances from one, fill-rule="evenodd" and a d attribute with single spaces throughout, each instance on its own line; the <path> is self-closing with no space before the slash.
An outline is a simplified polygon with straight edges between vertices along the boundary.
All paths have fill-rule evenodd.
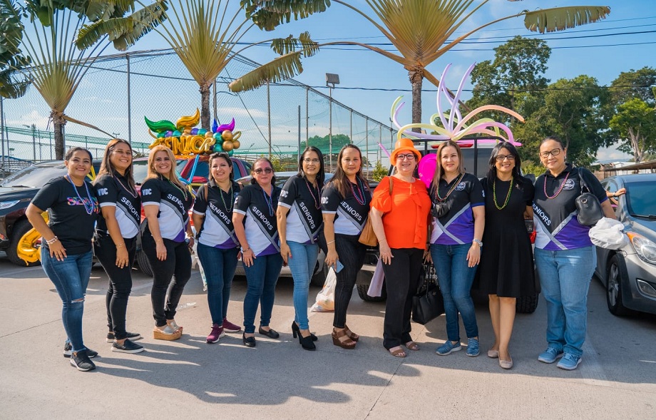
<path id="1" fill-rule="evenodd" d="M 490 0 L 365 0 L 371 11 L 361 11 L 346 1 L 332 0 L 333 3 L 341 4 L 360 14 L 370 24 L 376 27 L 389 39 L 398 53 L 384 51 L 381 48 L 353 41 L 337 41 L 321 43 L 318 47 L 327 45 L 357 45 L 375 51 L 387 58 L 396 61 L 408 71 L 412 86 L 412 122 L 421 123 L 421 85 L 424 78 L 435 86 L 439 86 L 439 80 L 426 69 L 430 63 L 441 57 L 464 39 L 480 31 L 507 19 L 517 17 L 524 18 L 524 25 L 529 31 L 544 32 L 563 31 L 583 24 L 589 24 L 610 14 L 608 6 L 568 6 L 555 7 L 552 9 L 538 9 L 535 11 L 524 10 L 518 14 L 505 16 L 501 19 L 488 22 L 478 28 L 468 31 L 462 36 L 449 41 L 449 38 L 481 9 Z M 508 0 L 517 1 L 517 0 Z M 265 16 L 267 10 L 275 4 L 287 3 L 287 0 L 244 0 L 247 7 L 259 8 L 256 13 Z M 324 11 L 331 0 L 305 0 L 307 7 L 314 11 Z M 312 4 L 310 6 L 309 4 Z M 376 21 L 374 17 L 378 20 Z M 290 52 L 287 56 L 297 55 L 298 52 Z M 287 58 L 285 56 L 284 58 Z M 247 91 L 262 85 L 262 72 L 270 71 L 267 65 L 257 68 L 245 74 L 241 78 L 230 83 L 233 92 Z M 284 74 L 277 75 L 272 81 L 280 81 L 285 78 Z M 419 130 L 417 128 L 416 130 Z"/>

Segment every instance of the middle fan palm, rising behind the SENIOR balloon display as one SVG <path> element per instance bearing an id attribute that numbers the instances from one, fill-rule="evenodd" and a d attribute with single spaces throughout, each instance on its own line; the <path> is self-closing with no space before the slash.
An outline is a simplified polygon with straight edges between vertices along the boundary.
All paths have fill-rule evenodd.
<path id="1" fill-rule="evenodd" d="M 234 13 L 229 11 L 232 10 L 230 0 L 169 0 L 167 4 L 165 22 L 155 29 L 155 32 L 168 42 L 200 86 L 200 123 L 204 128 L 210 128 L 210 87 L 237 54 L 262 43 L 271 43 L 272 49 L 281 55 L 290 51 L 297 52 L 277 59 L 272 64 L 273 68 L 277 68 L 285 76 L 292 77 L 302 71 L 299 56 L 312 56 L 317 51 L 316 43 L 310 39 L 307 32 L 300 34 L 298 38 L 289 36 L 285 39 L 268 39 L 237 49 L 242 37 L 256 22 L 250 19 L 247 10 L 246 16 L 240 17 L 240 14 L 245 12 L 243 5 Z M 312 14 L 312 10 L 304 10 L 303 2 L 296 1 L 275 11 L 267 11 L 266 16 L 258 16 L 260 21 L 257 25 L 272 30 L 275 26 L 289 21 L 287 16 L 291 14 L 294 14 L 294 19 L 299 19 Z M 96 39 L 103 34 L 111 34 L 121 24 L 109 19 L 88 25 L 80 31 L 76 42 L 78 46 L 92 45 Z M 264 83 L 266 77 L 263 76 L 260 81 Z"/>

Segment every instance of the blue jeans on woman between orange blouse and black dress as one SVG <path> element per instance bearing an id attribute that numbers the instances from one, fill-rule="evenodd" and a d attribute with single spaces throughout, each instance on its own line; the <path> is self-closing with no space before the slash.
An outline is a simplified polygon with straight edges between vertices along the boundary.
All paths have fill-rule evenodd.
<path id="1" fill-rule="evenodd" d="M 476 267 L 469 267 L 467 252 L 471 244 L 431 245 L 431 257 L 435 265 L 437 280 L 444 297 L 446 315 L 446 337 L 452 342 L 460 341 L 458 312 L 462 317 L 468 338 L 478 337 L 476 312 L 471 300 L 471 285 Z"/>

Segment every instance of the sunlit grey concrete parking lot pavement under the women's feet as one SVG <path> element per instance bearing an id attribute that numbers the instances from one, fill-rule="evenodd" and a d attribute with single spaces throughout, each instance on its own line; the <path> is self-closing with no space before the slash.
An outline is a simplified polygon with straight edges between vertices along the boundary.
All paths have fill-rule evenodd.
<path id="1" fill-rule="evenodd" d="M 185 334 L 178 342 L 150 338 L 151 283 L 135 271 L 128 329 L 143 334 L 146 351 L 113 353 L 99 266 L 84 316 L 98 369 L 78 372 L 62 357 L 61 302 L 41 267 L 16 267 L 0 255 L 0 282 L 0 419 L 656 419 L 656 317 L 613 317 L 595 280 L 583 363 L 573 372 L 536 360 L 545 348 L 543 301 L 516 319 L 510 371 L 485 355 L 493 337 L 486 306 L 476 311 L 481 356 L 437 356 L 446 339 L 440 317 L 413 324 L 421 350 L 396 359 L 382 347 L 384 304 L 362 302 L 357 293 L 348 321 L 362 335 L 357 349 L 334 347 L 332 313 L 312 313 L 319 341 L 307 352 L 289 328 L 290 279 L 277 287 L 271 326 L 280 339 L 259 336 L 247 349 L 241 334 L 227 334 L 205 344 L 211 325 L 197 271 L 180 302 L 176 320 Z M 228 315 L 237 323 L 245 285 L 237 277 L 232 287 Z"/>

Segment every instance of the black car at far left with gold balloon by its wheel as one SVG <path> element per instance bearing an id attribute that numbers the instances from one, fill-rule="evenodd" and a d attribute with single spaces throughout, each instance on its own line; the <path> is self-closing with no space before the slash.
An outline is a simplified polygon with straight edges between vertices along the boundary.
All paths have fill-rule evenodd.
<path id="1" fill-rule="evenodd" d="M 101 161 L 94 160 L 89 178 L 96 178 Z M 41 237 L 32 228 L 25 210 L 39 189 L 49 180 L 66 175 L 61 160 L 34 163 L 6 178 L 0 185 L 0 250 L 16 265 L 41 264 Z"/>

